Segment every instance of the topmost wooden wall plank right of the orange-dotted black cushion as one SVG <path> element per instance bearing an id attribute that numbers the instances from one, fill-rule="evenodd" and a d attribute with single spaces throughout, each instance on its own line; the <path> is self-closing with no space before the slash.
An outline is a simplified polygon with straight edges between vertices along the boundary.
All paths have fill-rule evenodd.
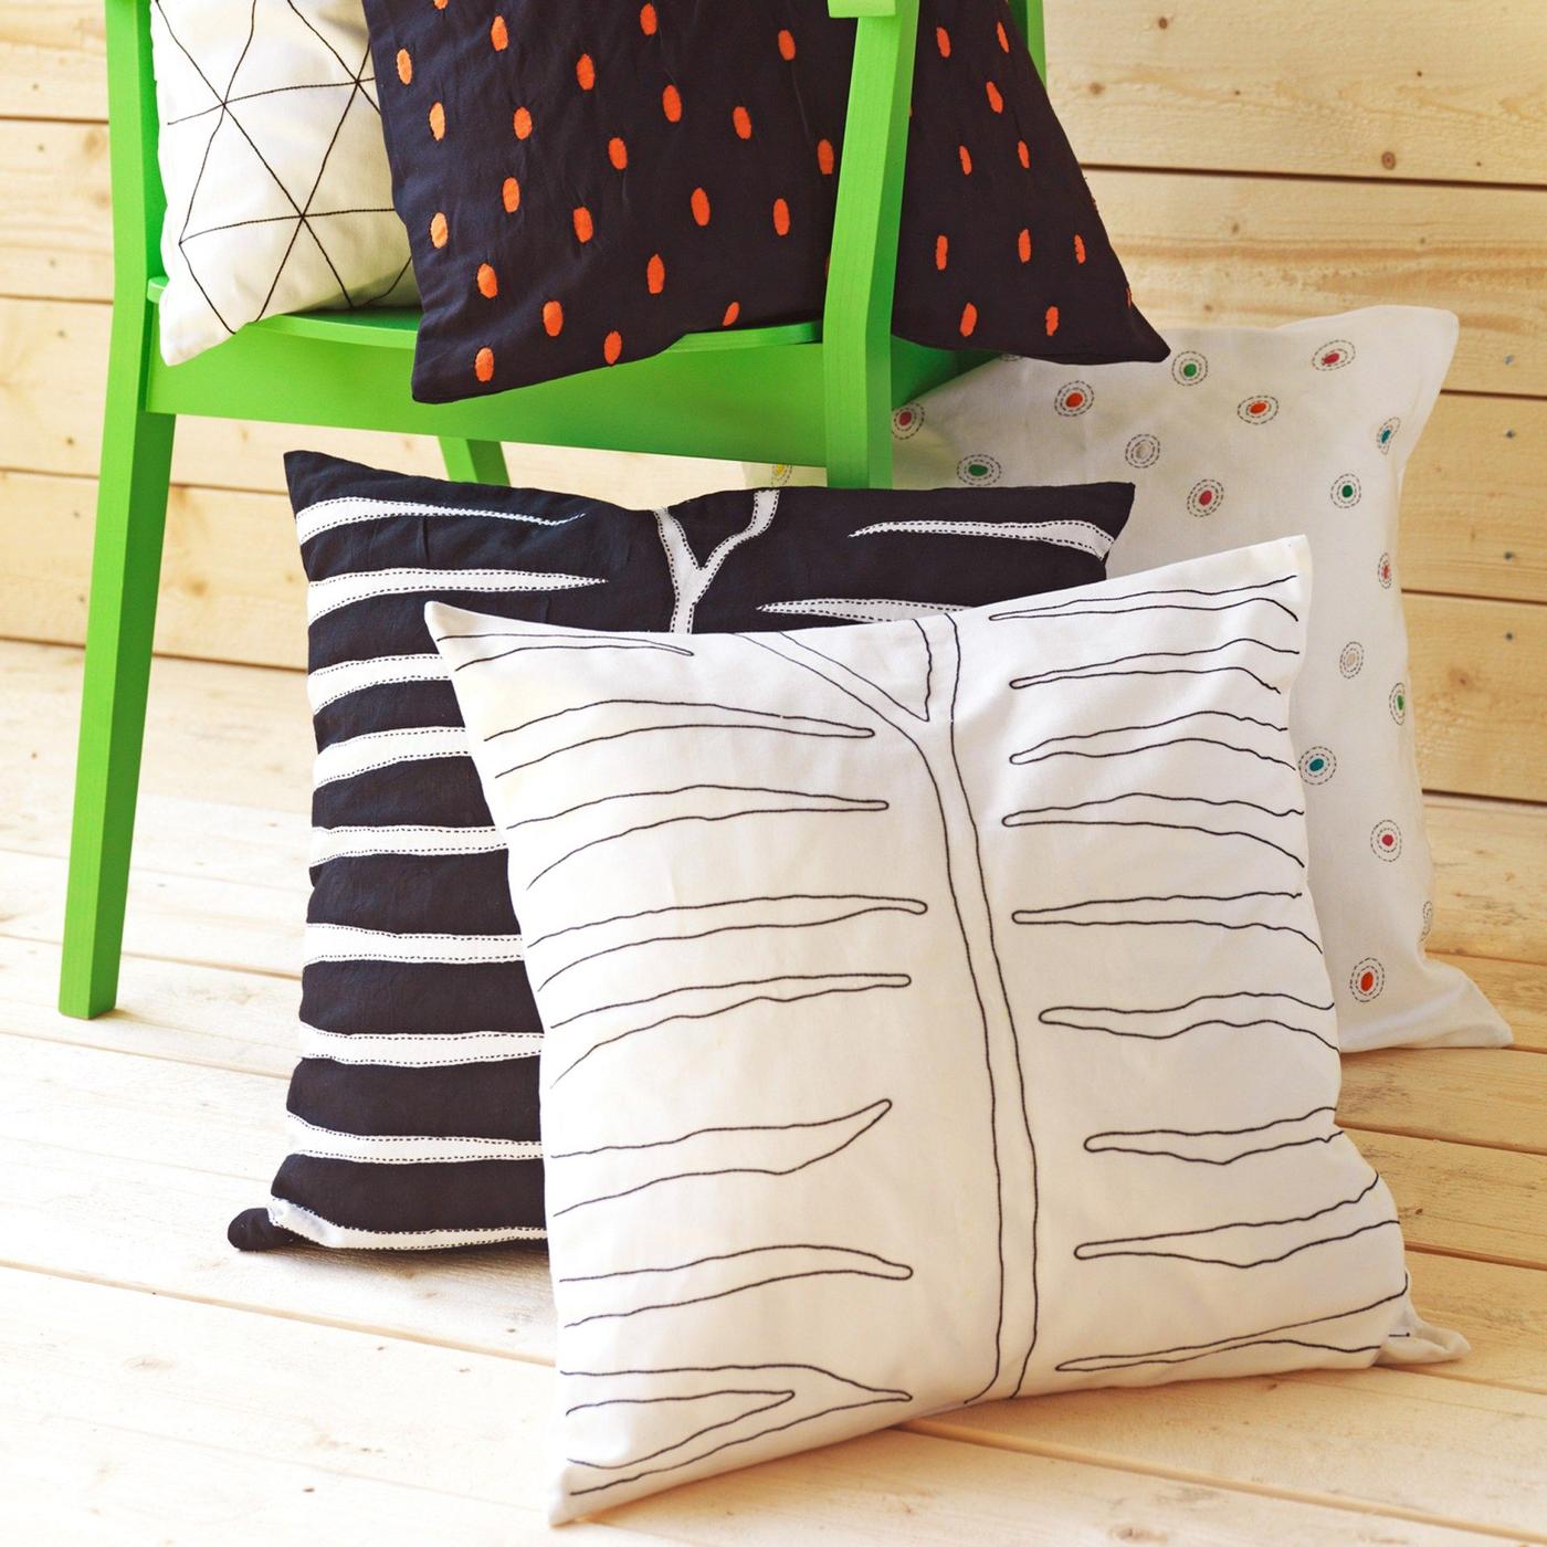
<path id="1" fill-rule="evenodd" d="M 1047 6 L 1049 90 L 1086 161 L 1547 183 L 1533 0 Z"/>

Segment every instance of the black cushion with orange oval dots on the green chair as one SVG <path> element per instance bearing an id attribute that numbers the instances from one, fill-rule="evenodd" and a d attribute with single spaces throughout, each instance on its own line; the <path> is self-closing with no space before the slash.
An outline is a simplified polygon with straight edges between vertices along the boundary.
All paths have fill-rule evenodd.
<path id="1" fill-rule="evenodd" d="M 854 23 L 826 0 L 367 0 L 446 402 L 821 314 Z M 896 328 L 1160 359 L 1002 0 L 924 0 Z"/>

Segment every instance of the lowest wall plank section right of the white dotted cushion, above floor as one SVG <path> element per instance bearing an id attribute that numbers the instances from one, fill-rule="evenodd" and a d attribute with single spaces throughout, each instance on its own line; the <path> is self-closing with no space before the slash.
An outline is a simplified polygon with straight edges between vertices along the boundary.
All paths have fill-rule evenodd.
<path id="1" fill-rule="evenodd" d="M 1406 613 L 1425 787 L 1547 798 L 1547 606 L 1409 596 Z"/>

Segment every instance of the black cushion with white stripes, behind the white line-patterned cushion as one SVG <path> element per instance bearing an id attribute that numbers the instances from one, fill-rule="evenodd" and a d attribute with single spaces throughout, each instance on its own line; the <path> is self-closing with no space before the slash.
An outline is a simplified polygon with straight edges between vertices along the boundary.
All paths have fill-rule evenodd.
<path id="1" fill-rule="evenodd" d="M 541 1235 L 537 1010 L 504 845 L 424 630 L 730 630 L 947 611 L 1100 580 L 1132 489 L 818 489 L 662 511 L 288 459 L 317 732 L 291 1148 L 240 1247 Z"/>

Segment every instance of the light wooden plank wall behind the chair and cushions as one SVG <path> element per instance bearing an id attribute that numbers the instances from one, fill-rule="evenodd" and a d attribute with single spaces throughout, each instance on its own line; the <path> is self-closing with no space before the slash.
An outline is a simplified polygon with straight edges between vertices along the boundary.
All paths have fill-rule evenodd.
<path id="1" fill-rule="evenodd" d="M 1462 343 L 1408 480 L 1403 579 L 1431 789 L 1547 800 L 1547 8 L 1497 0 L 1047 0 L 1052 90 L 1162 326 L 1377 300 Z M 0 15 L 0 636 L 82 637 L 108 331 L 102 26 Z M 280 453 L 435 469 L 412 438 L 187 422 L 159 648 L 299 665 Z M 625 503 L 724 463 L 512 449 Z"/>

